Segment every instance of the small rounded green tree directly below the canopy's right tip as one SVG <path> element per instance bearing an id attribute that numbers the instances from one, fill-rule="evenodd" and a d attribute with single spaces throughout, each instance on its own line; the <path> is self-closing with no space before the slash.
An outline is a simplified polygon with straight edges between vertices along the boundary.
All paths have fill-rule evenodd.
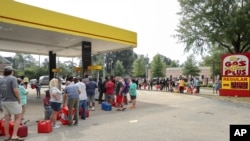
<path id="1" fill-rule="evenodd" d="M 133 62 L 132 75 L 135 77 L 144 77 L 146 73 L 145 60 L 143 56 L 138 57 Z"/>

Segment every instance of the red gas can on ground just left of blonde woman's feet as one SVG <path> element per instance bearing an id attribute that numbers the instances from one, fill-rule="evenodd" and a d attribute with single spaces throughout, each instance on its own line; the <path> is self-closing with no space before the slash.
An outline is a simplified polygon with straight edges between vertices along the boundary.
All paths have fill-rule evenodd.
<path id="1" fill-rule="evenodd" d="M 53 128 L 50 120 L 41 120 L 37 123 L 38 133 L 50 133 L 52 130 Z"/>

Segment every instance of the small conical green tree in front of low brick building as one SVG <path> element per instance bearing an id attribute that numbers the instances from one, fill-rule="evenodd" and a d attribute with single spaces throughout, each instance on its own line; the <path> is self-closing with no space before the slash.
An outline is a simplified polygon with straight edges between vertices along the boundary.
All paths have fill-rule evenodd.
<path id="1" fill-rule="evenodd" d="M 190 55 L 187 57 L 187 61 L 184 62 L 182 67 L 182 74 L 187 76 L 199 76 L 200 69 L 197 66 L 197 62 L 195 61 L 194 55 Z"/>

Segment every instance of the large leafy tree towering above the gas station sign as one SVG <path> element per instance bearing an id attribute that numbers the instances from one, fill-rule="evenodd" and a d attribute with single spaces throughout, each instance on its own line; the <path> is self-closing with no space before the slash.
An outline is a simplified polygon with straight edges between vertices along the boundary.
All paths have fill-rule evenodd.
<path id="1" fill-rule="evenodd" d="M 214 45 L 229 53 L 250 49 L 249 0 L 178 0 L 180 24 L 175 37 L 185 51 L 203 53 Z"/>

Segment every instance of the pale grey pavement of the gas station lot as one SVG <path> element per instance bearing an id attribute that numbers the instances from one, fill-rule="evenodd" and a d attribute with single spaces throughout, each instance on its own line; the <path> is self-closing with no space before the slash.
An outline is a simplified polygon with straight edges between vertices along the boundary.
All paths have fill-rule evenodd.
<path id="1" fill-rule="evenodd" d="M 218 96 L 211 89 L 201 89 L 199 95 L 138 90 L 135 109 L 103 111 L 96 102 L 96 110 L 90 111 L 90 117 L 80 120 L 78 126 L 61 125 L 51 133 L 37 133 L 36 121 L 43 119 L 42 98 L 29 88 L 25 120 L 30 122 L 25 140 L 229 141 L 230 124 L 250 123 L 249 105 L 204 95 Z"/>

